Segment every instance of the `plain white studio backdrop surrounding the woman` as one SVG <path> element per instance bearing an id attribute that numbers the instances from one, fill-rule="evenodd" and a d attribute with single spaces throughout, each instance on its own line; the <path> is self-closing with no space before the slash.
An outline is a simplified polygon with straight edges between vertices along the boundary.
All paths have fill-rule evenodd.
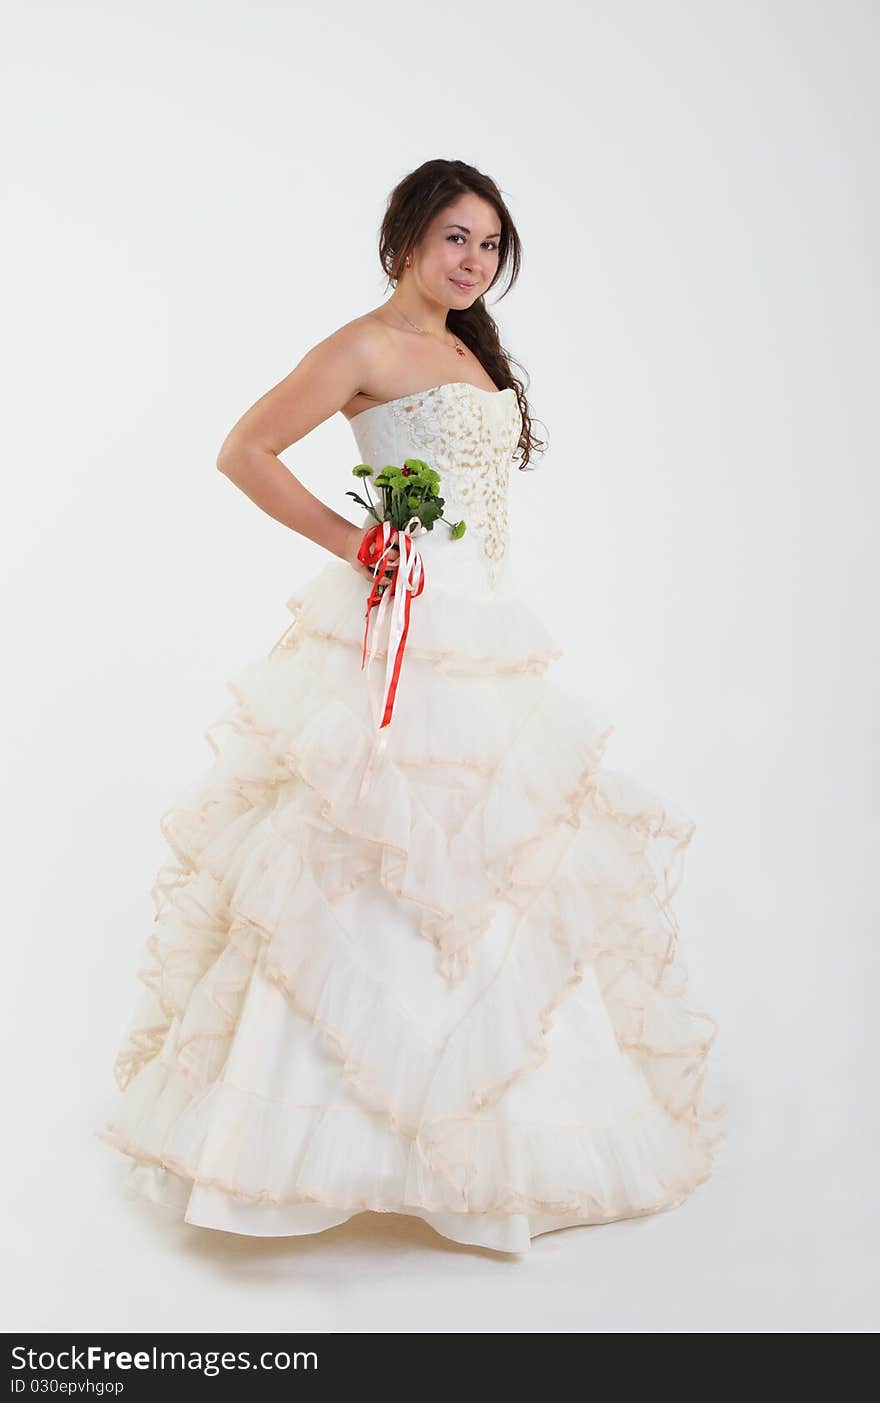
<path id="1" fill-rule="evenodd" d="M 867 0 L 10 7 L 7 1330 L 876 1327 L 877 41 Z M 516 568 L 608 762 L 696 821 L 730 1106 L 688 1204 L 522 1261 L 393 1215 L 175 1226 L 93 1136 L 159 814 L 327 558 L 216 452 L 387 295 L 385 201 L 435 156 L 524 240 Z M 340 415 L 285 455 L 342 511 L 356 460 Z"/>

